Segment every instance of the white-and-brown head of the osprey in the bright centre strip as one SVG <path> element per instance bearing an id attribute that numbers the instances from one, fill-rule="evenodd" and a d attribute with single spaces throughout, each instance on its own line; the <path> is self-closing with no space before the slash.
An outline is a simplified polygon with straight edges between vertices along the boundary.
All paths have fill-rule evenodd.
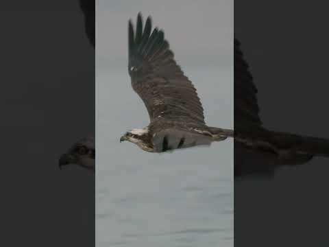
<path id="1" fill-rule="evenodd" d="M 144 151 L 153 152 L 151 142 L 149 141 L 149 133 L 147 128 L 133 129 L 125 132 L 125 134 L 123 134 L 120 138 L 120 142 L 122 141 L 130 141 L 131 143 L 138 145 L 138 147 Z"/>

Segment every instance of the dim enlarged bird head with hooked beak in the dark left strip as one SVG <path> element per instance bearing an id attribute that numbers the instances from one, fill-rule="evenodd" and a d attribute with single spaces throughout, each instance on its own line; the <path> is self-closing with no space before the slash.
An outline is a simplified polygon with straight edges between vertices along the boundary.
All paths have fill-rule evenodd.
<path id="1" fill-rule="evenodd" d="M 86 137 L 73 144 L 60 156 L 60 169 L 63 165 L 75 164 L 95 172 L 95 138 Z"/>

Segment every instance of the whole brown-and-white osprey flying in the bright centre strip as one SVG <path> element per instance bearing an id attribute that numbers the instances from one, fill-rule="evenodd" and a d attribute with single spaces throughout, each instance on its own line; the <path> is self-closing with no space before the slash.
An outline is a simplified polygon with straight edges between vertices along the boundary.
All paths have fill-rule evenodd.
<path id="1" fill-rule="evenodd" d="M 152 31 L 150 16 L 143 27 L 139 13 L 136 30 L 129 21 L 128 52 L 132 88 L 143 99 L 150 122 L 126 132 L 120 141 L 147 152 L 166 152 L 233 137 L 232 130 L 206 126 L 195 87 L 176 64 L 164 32 L 157 27 Z"/>

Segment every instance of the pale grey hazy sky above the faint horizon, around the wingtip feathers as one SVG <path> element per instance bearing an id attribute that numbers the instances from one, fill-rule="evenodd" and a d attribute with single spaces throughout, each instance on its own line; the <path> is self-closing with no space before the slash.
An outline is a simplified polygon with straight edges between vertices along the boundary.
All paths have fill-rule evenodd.
<path id="1" fill-rule="evenodd" d="M 108 62 L 127 60 L 127 20 L 153 17 L 169 38 L 176 58 L 183 65 L 232 65 L 233 2 L 207 1 L 96 1 L 97 69 Z M 102 63 L 102 60 L 106 62 Z M 123 61 L 121 61 L 123 60 Z M 188 62 L 187 62 L 188 61 Z"/>

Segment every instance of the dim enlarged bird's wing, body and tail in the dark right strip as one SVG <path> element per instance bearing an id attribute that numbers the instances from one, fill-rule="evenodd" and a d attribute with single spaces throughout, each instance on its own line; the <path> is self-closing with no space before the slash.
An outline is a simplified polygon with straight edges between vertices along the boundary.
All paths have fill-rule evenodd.
<path id="1" fill-rule="evenodd" d="M 273 176 L 278 167 L 329 156 L 329 140 L 267 130 L 259 117 L 257 89 L 234 39 L 234 176 Z"/>

